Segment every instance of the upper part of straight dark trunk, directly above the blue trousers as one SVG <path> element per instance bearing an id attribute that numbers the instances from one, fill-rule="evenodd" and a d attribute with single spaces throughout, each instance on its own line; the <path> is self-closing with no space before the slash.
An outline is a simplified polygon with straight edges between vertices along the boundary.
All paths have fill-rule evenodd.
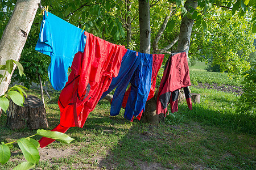
<path id="1" fill-rule="evenodd" d="M 139 52 L 150 54 L 150 3 L 139 0 Z"/>

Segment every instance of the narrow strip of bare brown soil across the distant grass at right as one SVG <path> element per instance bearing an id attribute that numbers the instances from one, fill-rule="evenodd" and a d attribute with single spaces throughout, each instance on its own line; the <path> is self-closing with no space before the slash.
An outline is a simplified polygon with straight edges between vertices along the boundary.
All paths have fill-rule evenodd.
<path id="1" fill-rule="evenodd" d="M 192 84 L 192 86 L 197 88 L 208 88 L 208 89 L 215 89 L 217 91 L 225 91 L 230 93 L 236 93 L 238 95 L 243 94 L 243 89 L 240 86 L 230 86 L 226 84 L 217 84 L 217 83 L 198 83 L 198 85 Z"/>

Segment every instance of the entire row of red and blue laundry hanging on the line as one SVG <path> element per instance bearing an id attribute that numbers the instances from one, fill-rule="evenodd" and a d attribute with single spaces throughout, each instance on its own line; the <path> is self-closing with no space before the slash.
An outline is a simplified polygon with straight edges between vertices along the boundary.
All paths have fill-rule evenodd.
<path id="1" fill-rule="evenodd" d="M 57 29 L 60 25 L 63 28 L 61 31 Z M 140 120 L 146 101 L 155 95 L 156 76 L 164 54 L 145 54 L 125 49 L 125 46 L 81 32 L 80 28 L 51 12 L 44 15 L 39 35 L 35 49 L 51 57 L 49 78 L 56 85 L 54 87 L 62 89 L 58 100 L 60 124 L 51 131 L 65 133 L 73 126 L 82 128 L 98 101 L 114 88 L 110 115 L 119 114 L 121 105 L 125 104 L 124 117 L 130 121 L 133 117 Z M 169 103 L 171 111 L 177 111 L 178 90 L 182 87 L 185 87 L 188 107 L 192 109 L 190 93 L 186 88 L 191 85 L 187 54 L 178 52 L 169 55 L 172 57 L 166 63 L 157 101 L 157 114 L 165 113 L 165 116 Z M 172 65 L 176 69 L 171 69 Z M 72 70 L 69 76 L 68 66 Z M 128 92 L 129 83 L 131 87 Z M 43 137 L 39 141 L 40 147 L 53 141 Z"/>

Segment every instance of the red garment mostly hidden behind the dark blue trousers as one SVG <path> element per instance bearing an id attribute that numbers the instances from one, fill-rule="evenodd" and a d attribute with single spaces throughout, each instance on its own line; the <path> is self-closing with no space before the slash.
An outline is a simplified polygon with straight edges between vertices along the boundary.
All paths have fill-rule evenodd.
<path id="1" fill-rule="evenodd" d="M 155 95 L 155 85 L 156 85 L 156 76 L 158 75 L 158 71 L 162 65 L 164 54 L 152 54 L 153 56 L 153 66 L 152 66 L 152 76 L 151 76 L 151 87 L 150 92 L 148 94 L 147 100 L 150 100 Z M 130 95 L 131 87 L 125 92 L 125 96 L 123 97 L 122 107 L 126 107 L 128 96 Z M 136 117 L 138 120 L 141 120 L 143 110 Z M 133 119 L 131 120 L 131 122 Z"/>

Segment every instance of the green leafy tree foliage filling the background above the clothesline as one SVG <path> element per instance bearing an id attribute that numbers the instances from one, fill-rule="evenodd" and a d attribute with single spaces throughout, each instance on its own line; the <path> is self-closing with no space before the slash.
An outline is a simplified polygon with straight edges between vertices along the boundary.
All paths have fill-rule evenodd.
<path id="1" fill-rule="evenodd" d="M 249 63 L 246 60 L 249 54 L 255 51 L 252 44 L 256 33 L 256 2 L 252 0 L 198 0 L 197 8 L 191 10 L 184 6 L 185 2 L 184 0 L 150 1 L 151 44 L 153 46 L 155 37 L 159 35 L 159 29 L 166 22 L 163 27 L 164 31 L 159 35 L 157 49 L 151 48 L 151 52 L 167 53 L 175 50 L 181 18 L 187 16 L 195 20 L 188 54 L 191 61 L 212 59 L 214 64 L 220 64 L 221 71 L 227 70 L 237 75 L 249 69 Z M 0 1 L 0 37 L 15 3 L 15 0 Z M 52 14 L 102 39 L 115 44 L 129 44 L 127 48 L 133 50 L 139 49 L 138 1 L 46 0 L 41 3 L 42 7 L 49 6 L 48 10 Z M 30 55 L 34 58 L 41 58 L 36 60 L 33 67 L 28 66 L 30 71 L 27 72 L 25 69 L 24 73 L 27 75 L 35 73 L 46 75 L 47 72 L 46 66 L 36 69 L 36 65 L 41 65 L 40 62 L 49 62 L 49 57 L 35 52 L 32 48 L 39 35 L 42 18 L 38 10 L 28 37 L 27 48 L 22 53 L 21 63 L 23 60 L 27 62 L 25 58 Z M 130 39 L 126 39 L 128 33 L 131 35 Z M 42 61 L 43 57 L 46 59 Z M 23 65 L 26 64 L 23 63 Z M 44 81 L 46 79 L 43 78 Z"/>

